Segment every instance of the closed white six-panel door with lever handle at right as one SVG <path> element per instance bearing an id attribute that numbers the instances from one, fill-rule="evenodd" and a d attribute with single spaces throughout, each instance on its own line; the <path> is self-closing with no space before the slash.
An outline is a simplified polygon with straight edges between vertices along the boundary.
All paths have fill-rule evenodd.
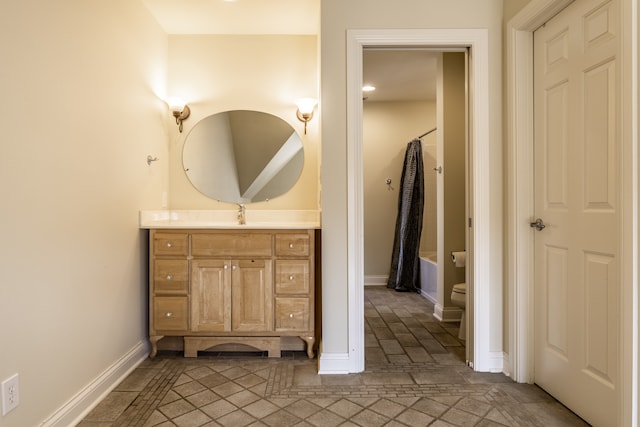
<path id="1" fill-rule="evenodd" d="M 619 18 L 578 0 L 534 33 L 535 382 L 617 425 Z"/>

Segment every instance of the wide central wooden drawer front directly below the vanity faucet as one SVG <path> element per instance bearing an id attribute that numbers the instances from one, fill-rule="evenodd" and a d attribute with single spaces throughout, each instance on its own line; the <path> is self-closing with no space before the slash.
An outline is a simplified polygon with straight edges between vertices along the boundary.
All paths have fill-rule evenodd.
<path id="1" fill-rule="evenodd" d="M 268 233 L 194 233 L 191 235 L 191 254 L 194 257 L 270 257 L 271 246 L 271 234 Z"/>

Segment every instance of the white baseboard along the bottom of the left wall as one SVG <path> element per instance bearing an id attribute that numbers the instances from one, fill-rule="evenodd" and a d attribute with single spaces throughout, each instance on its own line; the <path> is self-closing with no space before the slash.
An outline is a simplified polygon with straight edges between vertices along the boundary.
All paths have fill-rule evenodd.
<path id="1" fill-rule="evenodd" d="M 45 419 L 40 426 L 75 426 L 148 356 L 147 343 L 140 341 L 107 370 L 87 384 L 71 400 Z"/>

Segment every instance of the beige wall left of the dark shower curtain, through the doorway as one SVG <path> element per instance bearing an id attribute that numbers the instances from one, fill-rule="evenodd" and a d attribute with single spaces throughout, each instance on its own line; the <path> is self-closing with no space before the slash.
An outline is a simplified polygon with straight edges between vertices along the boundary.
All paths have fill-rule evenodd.
<path id="1" fill-rule="evenodd" d="M 436 126 L 436 110 L 434 102 L 365 102 L 363 111 L 364 274 L 375 282 L 389 275 L 407 143 Z M 423 153 L 429 143 L 435 134 L 423 140 Z M 425 170 L 425 182 L 427 174 L 434 175 Z M 434 191 L 425 191 L 425 198 Z M 429 207 L 433 214 L 425 213 L 425 219 L 435 217 L 434 203 Z"/>

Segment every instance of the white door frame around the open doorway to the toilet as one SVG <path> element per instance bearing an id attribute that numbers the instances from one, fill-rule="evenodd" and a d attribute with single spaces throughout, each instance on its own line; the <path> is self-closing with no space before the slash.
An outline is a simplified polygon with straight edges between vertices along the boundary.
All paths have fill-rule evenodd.
<path id="1" fill-rule="evenodd" d="M 489 42 L 487 29 L 348 30 L 347 31 L 347 256 L 349 372 L 364 370 L 364 233 L 362 52 L 365 47 L 469 48 L 469 230 L 473 266 L 467 313 L 474 338 L 470 364 L 476 371 L 502 372 L 501 254 L 491 250 Z M 496 167 L 499 167 L 496 165 Z M 474 197 L 482 195 L 482 197 Z M 475 201 L 475 203 L 473 203 Z M 500 271 L 497 271 L 500 270 Z M 491 307 L 490 310 L 473 310 Z"/>

